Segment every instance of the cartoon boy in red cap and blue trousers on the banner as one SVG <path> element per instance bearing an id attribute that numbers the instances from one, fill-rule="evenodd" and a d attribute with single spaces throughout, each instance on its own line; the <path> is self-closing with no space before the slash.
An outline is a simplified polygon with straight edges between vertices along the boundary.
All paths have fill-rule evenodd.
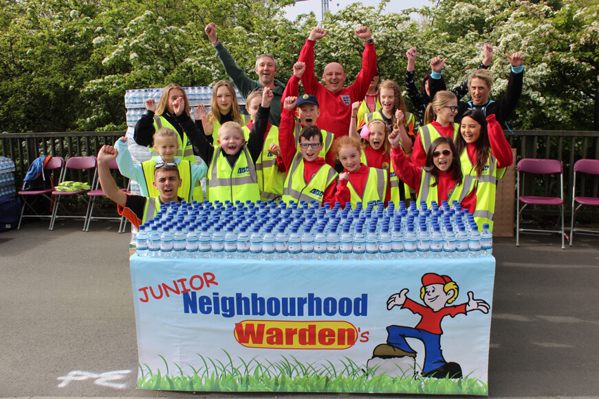
<path id="1" fill-rule="evenodd" d="M 472 292 L 468 292 L 468 303 L 449 306 L 457 298 L 458 286 L 447 275 L 426 273 L 422 276 L 420 299 L 426 306 L 417 304 L 406 297 L 408 288 L 400 293 L 393 294 L 387 300 L 387 310 L 393 306 L 409 309 L 422 318 L 415 328 L 404 326 L 389 326 L 387 343 L 375 347 L 373 357 L 400 358 L 416 357 L 416 352 L 406 342 L 406 338 L 420 339 L 424 343 L 424 367 L 422 376 L 433 378 L 461 378 L 461 367 L 457 363 L 446 362 L 441 350 L 441 321 L 447 315 L 466 314 L 472 310 L 489 312 L 489 304 L 482 299 L 475 299 Z"/>

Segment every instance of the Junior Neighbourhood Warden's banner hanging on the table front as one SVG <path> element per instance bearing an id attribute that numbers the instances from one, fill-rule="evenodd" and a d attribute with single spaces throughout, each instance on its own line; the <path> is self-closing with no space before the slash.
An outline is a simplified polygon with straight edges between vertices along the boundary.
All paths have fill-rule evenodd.
<path id="1" fill-rule="evenodd" d="M 494 269 L 133 255 L 138 388 L 488 395 Z"/>

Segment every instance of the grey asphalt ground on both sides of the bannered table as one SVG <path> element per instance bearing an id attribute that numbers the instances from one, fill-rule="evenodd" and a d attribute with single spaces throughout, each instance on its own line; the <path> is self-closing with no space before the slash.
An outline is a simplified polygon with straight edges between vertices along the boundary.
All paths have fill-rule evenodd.
<path id="1" fill-rule="evenodd" d="M 130 235 L 104 221 L 89 233 L 83 222 L 47 226 L 0 233 L 0 398 L 391 397 L 135 389 Z M 556 234 L 515 242 L 494 239 L 490 397 L 598 397 L 599 237 L 565 250 Z"/>

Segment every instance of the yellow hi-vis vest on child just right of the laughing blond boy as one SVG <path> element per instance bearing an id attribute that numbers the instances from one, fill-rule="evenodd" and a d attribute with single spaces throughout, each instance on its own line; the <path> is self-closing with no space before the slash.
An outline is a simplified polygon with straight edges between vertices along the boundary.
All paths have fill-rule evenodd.
<path id="1" fill-rule="evenodd" d="M 243 135 L 246 137 L 246 141 L 250 139 L 248 126 L 243 126 Z M 279 128 L 274 125 L 271 125 L 266 133 L 262 152 L 256 161 L 256 176 L 262 201 L 278 200 L 283 195 L 283 184 L 285 183 L 285 173 L 279 171 L 276 155 L 268 150 L 270 144 L 279 145 Z"/>

